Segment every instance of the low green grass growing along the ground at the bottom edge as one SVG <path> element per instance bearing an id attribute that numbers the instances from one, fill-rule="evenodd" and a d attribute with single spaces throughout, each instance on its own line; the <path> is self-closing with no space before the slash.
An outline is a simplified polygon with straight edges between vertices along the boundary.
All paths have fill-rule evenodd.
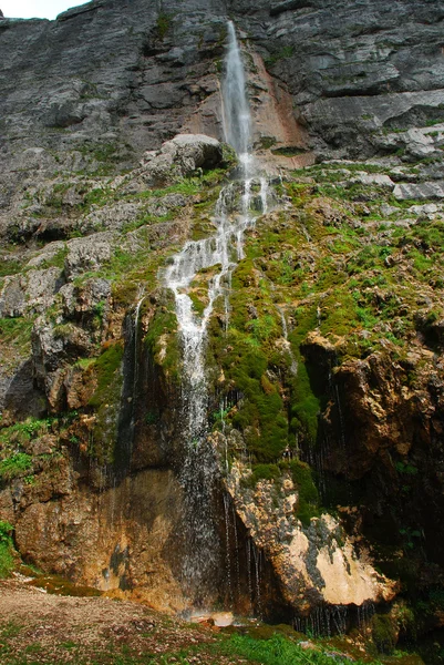
<path id="1" fill-rule="evenodd" d="M 161 617 L 156 617 L 158 623 Z M 47 620 L 48 621 L 48 620 Z M 283 626 L 282 626 L 283 627 Z M 257 638 L 248 634 L 240 634 L 235 632 L 229 635 L 227 633 L 219 634 L 217 636 L 209 636 L 208 634 L 198 632 L 195 626 L 189 627 L 189 633 L 193 635 L 194 645 L 190 644 L 187 632 L 182 627 L 180 640 L 173 633 L 173 628 L 167 625 L 167 620 L 162 618 L 161 625 L 152 633 L 146 633 L 142 637 L 134 636 L 133 641 L 127 642 L 126 640 L 120 640 L 116 642 L 110 642 L 95 646 L 94 656 L 91 654 L 86 655 L 85 649 L 82 646 L 80 640 L 66 638 L 60 635 L 56 644 L 60 659 L 51 659 L 54 665 L 61 665 L 61 663 L 75 663 L 76 665 L 171 665 L 178 663 L 179 665 L 220 665 L 220 664 L 240 664 L 251 663 L 254 665 L 331 665 L 337 663 L 338 665 L 345 665 L 350 662 L 350 656 L 345 653 L 341 653 L 337 648 L 330 646 L 328 643 L 324 645 L 319 644 L 314 648 L 301 646 L 299 644 L 300 637 L 293 633 L 290 636 L 291 630 L 287 631 L 288 636 L 278 631 L 269 631 L 271 635 L 266 638 Z M 31 642 L 21 652 L 20 656 L 17 654 L 17 644 L 22 642 L 22 634 L 24 633 L 23 626 L 18 623 L 10 622 L 0 627 L 1 637 L 1 656 L 4 665 L 32 665 L 33 663 L 49 662 L 45 659 L 48 646 L 38 641 Z M 153 649 L 153 640 L 157 637 L 161 645 L 166 645 L 166 648 Z M 137 646 L 134 644 L 134 638 L 137 642 Z M 102 638 L 102 643 L 103 643 Z M 149 645 L 148 649 L 143 646 L 143 643 Z M 175 646 L 168 648 L 168 643 L 173 643 Z M 153 653 L 153 652 L 161 653 Z M 35 659 L 38 658 L 38 661 Z M 392 661 L 390 661 L 392 662 Z M 395 661 L 399 665 L 421 665 L 421 659 L 410 659 L 407 654 L 397 653 Z M 373 665 L 389 664 L 389 661 L 382 655 L 381 659 L 368 658 L 364 661 L 361 658 L 353 658 L 353 663 L 357 665 L 363 665 L 364 663 L 371 663 Z"/>

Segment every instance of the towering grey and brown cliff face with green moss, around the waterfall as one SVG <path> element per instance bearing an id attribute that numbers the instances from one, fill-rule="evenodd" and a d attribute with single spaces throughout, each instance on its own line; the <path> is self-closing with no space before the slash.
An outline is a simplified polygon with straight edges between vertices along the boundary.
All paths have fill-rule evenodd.
<path id="1" fill-rule="evenodd" d="M 233 176 L 229 13 L 276 211 L 208 330 L 211 598 L 310 616 L 391 602 L 409 566 L 426 594 L 444 556 L 444 4 L 228 4 L 1 22 L 0 519 L 44 570 L 189 601 L 162 268 L 211 233 Z"/>

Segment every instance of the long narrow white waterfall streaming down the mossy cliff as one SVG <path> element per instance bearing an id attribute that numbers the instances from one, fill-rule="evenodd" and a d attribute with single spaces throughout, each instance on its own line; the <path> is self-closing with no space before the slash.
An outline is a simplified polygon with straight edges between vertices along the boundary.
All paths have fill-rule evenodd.
<path id="1" fill-rule="evenodd" d="M 205 606 L 220 569 L 223 543 L 215 512 L 218 464 L 208 434 L 208 383 L 205 349 L 208 320 L 217 298 L 225 298 L 228 325 L 230 275 L 244 257 L 244 234 L 256 219 L 251 213 L 252 188 L 260 183 L 259 208 L 267 209 L 268 183 L 260 177 L 251 154 L 251 117 L 245 73 L 234 24 L 228 23 L 226 75 L 223 84 L 224 130 L 240 164 L 240 182 L 223 188 L 215 209 L 211 237 L 188 242 L 165 272 L 173 291 L 183 349 L 182 419 L 185 459 L 180 472 L 184 490 L 183 587 L 195 605 Z M 241 190 L 239 209 L 236 194 Z M 257 215 L 256 215 L 257 216 Z M 202 315 L 193 308 L 190 289 L 196 276 L 207 270 L 207 304 Z M 200 275 L 203 278 L 203 274 Z"/>

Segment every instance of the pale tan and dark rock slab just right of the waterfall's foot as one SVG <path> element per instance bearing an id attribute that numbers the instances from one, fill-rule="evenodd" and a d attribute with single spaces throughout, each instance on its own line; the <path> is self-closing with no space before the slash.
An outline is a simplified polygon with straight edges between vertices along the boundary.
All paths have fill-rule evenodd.
<path id="1" fill-rule="evenodd" d="M 261 481 L 246 489 L 251 471 L 234 464 L 227 489 L 255 544 L 270 561 L 286 602 L 300 614 L 323 605 L 363 605 L 393 600 L 396 587 L 358 556 L 341 524 L 329 514 L 302 526 L 301 498 L 288 474 L 281 483 Z M 244 485 L 244 487 L 242 487 Z"/>

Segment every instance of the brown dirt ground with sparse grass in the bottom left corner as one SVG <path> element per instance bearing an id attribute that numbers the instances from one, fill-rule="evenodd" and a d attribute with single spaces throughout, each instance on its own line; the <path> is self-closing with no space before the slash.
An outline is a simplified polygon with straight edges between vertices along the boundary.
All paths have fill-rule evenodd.
<path id="1" fill-rule="evenodd" d="M 214 659 L 217 641 L 215 628 L 136 603 L 59 596 L 23 581 L 0 581 L 1 665 L 242 663 Z"/>

